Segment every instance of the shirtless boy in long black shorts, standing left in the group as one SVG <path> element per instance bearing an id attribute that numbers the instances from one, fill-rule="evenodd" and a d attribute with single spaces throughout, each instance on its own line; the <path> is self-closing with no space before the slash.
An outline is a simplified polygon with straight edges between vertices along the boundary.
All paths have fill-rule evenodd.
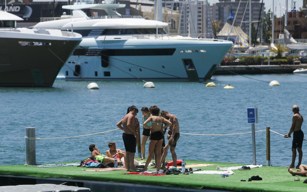
<path id="1" fill-rule="evenodd" d="M 138 137 L 138 133 L 136 131 L 136 119 L 135 115 L 138 113 L 138 108 L 135 106 L 131 106 L 129 108 L 129 113 L 125 115 L 125 117 L 120 120 L 116 126 L 123 131 L 122 140 L 125 145 L 125 167 L 127 171 L 136 172 L 136 168 L 134 167 L 134 155 L 136 148 L 136 137 Z"/>

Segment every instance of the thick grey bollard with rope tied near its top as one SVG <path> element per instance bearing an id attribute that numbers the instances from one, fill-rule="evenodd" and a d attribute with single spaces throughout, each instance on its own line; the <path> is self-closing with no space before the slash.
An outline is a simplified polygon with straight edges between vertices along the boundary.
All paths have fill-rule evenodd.
<path id="1" fill-rule="evenodd" d="M 35 127 L 25 128 L 25 164 L 35 165 L 36 164 L 36 154 L 35 154 Z"/>

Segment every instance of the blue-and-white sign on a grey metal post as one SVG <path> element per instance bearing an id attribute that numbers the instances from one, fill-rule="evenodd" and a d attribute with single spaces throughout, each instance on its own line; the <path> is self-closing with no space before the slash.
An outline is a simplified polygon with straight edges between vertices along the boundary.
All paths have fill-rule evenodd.
<path id="1" fill-rule="evenodd" d="M 253 148 L 253 165 L 256 165 L 256 139 L 255 139 L 255 123 L 258 123 L 258 108 L 247 108 L 247 122 L 251 123 L 251 137 Z"/>

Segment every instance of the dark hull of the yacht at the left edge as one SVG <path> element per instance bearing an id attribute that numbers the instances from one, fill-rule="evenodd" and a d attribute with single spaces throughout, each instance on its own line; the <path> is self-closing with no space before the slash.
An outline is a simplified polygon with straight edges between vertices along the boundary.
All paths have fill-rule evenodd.
<path id="1" fill-rule="evenodd" d="M 49 43 L 22 46 L 19 42 Z M 52 87 L 78 40 L 0 38 L 0 86 Z"/>

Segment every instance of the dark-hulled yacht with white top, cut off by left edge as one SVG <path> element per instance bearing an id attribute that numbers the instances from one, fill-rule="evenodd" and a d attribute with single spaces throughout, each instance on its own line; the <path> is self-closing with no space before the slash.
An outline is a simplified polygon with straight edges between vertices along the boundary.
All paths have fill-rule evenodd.
<path id="1" fill-rule="evenodd" d="M 51 87 L 82 36 L 58 29 L 16 28 L 21 20 L 0 11 L 0 86 Z"/>

